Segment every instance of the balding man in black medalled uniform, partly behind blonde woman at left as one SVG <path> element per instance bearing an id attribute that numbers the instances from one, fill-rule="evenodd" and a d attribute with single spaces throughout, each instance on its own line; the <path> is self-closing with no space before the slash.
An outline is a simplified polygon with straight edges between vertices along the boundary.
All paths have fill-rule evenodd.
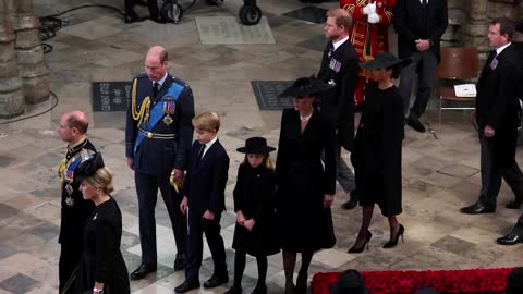
<path id="1" fill-rule="evenodd" d="M 95 208 L 92 201 L 84 200 L 78 189 L 80 184 L 74 182 L 76 168 L 96 152 L 85 136 L 88 125 L 87 115 L 75 110 L 64 113 L 57 127 L 60 138 L 68 143 L 68 152 L 58 168 L 62 188 L 62 218 L 58 237 L 61 245 L 58 264 L 60 293 L 68 293 L 73 280 L 72 275 L 83 253 L 84 222 Z"/>

